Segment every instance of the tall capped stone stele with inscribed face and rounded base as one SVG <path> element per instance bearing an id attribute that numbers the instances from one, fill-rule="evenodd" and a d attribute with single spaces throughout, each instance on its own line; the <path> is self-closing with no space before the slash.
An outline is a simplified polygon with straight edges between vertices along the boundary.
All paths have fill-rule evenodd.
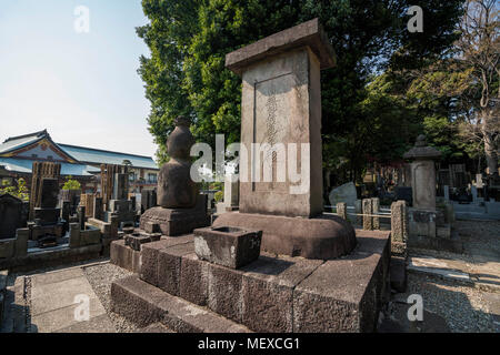
<path id="1" fill-rule="evenodd" d="M 226 67 L 243 81 L 241 144 L 250 159 L 240 173 L 251 172 L 251 178 L 240 178 L 239 213 L 220 215 L 214 226 L 262 231 L 262 250 L 277 254 L 333 258 L 354 247 L 352 226 L 323 214 L 320 71 L 334 63 L 318 19 L 226 55 Z M 290 143 L 297 148 L 296 171 L 307 166 L 302 180 L 309 189 L 301 192 L 294 190 L 301 182 L 291 181 L 288 173 L 286 181 L 278 179 L 278 154 L 253 151 L 256 144 L 283 144 L 288 158 Z M 301 151 L 303 144 L 309 144 L 309 152 Z M 272 181 L 262 179 L 264 162 L 272 165 Z M 289 170 L 288 164 L 287 160 Z"/>

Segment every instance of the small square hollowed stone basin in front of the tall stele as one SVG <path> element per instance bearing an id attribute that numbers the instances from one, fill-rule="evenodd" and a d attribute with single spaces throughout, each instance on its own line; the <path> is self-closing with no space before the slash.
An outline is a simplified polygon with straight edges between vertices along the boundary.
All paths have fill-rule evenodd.
<path id="1" fill-rule="evenodd" d="M 194 252 L 201 260 L 239 268 L 260 255 L 262 231 L 239 227 L 208 227 L 194 230 Z"/>

